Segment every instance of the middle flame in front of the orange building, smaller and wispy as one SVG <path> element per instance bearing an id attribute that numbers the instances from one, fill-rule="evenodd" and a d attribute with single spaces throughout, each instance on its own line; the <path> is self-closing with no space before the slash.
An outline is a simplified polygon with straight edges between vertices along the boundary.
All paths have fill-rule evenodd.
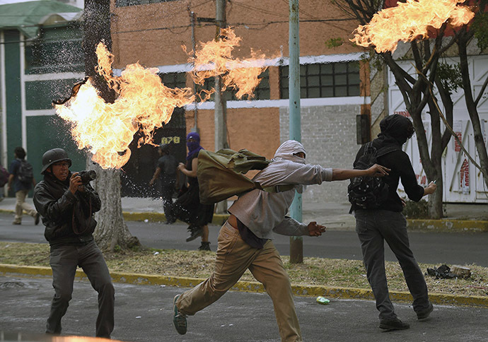
<path id="1" fill-rule="evenodd" d="M 194 57 L 189 59 L 189 62 L 194 64 L 194 68 L 190 71 L 194 83 L 202 86 L 206 78 L 221 76 L 222 90 L 238 89 L 236 93 L 238 99 L 246 94 L 252 98 L 253 91 L 260 83 L 258 76 L 267 69 L 267 66 L 264 66 L 265 55 L 251 49 L 249 59 L 233 58 L 233 49 L 240 46 L 240 40 L 241 38 L 236 36 L 232 28 L 223 28 L 220 40 L 200 42 Z M 185 47 L 183 49 L 186 51 Z M 213 92 L 213 89 L 204 90 L 206 93 L 204 100 L 207 100 Z"/>

